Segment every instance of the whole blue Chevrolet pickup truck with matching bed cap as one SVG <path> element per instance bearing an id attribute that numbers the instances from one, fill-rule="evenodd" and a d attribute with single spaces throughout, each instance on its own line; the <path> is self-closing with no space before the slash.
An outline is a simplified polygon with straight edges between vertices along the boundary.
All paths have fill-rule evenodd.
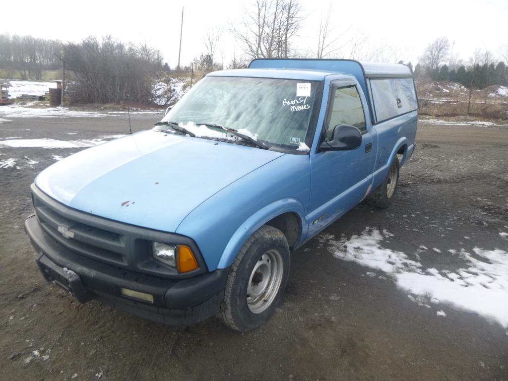
<path id="1" fill-rule="evenodd" d="M 152 130 L 45 169 L 25 231 L 81 303 L 248 331 L 294 250 L 364 199 L 390 204 L 417 121 L 406 66 L 256 59 L 208 74 Z"/>

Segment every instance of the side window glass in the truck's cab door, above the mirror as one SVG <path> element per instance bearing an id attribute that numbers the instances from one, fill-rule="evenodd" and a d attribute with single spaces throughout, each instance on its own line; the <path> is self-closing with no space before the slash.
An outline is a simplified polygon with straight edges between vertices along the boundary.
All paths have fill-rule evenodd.
<path id="1" fill-rule="evenodd" d="M 360 132 L 366 131 L 362 101 L 356 86 L 338 87 L 332 98 L 326 123 L 326 138 L 332 138 L 333 128 L 337 124 L 351 124 Z"/>

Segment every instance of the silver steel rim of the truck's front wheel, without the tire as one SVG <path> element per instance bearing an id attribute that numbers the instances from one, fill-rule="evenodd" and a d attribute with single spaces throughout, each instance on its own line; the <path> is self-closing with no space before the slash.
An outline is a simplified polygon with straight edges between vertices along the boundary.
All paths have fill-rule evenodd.
<path id="1" fill-rule="evenodd" d="M 256 262 L 247 284 L 247 307 L 252 313 L 261 313 L 274 301 L 282 282 L 282 256 L 268 250 Z"/>

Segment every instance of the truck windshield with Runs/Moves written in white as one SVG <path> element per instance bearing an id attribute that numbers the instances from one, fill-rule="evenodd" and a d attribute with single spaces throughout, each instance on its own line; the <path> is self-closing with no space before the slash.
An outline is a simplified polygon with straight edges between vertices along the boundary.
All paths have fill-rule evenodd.
<path id="1" fill-rule="evenodd" d="M 164 117 L 195 132 L 217 124 L 268 144 L 307 150 L 319 81 L 205 77 Z M 204 134 L 203 131 L 209 131 Z M 198 136 L 224 131 L 200 127 Z"/>

